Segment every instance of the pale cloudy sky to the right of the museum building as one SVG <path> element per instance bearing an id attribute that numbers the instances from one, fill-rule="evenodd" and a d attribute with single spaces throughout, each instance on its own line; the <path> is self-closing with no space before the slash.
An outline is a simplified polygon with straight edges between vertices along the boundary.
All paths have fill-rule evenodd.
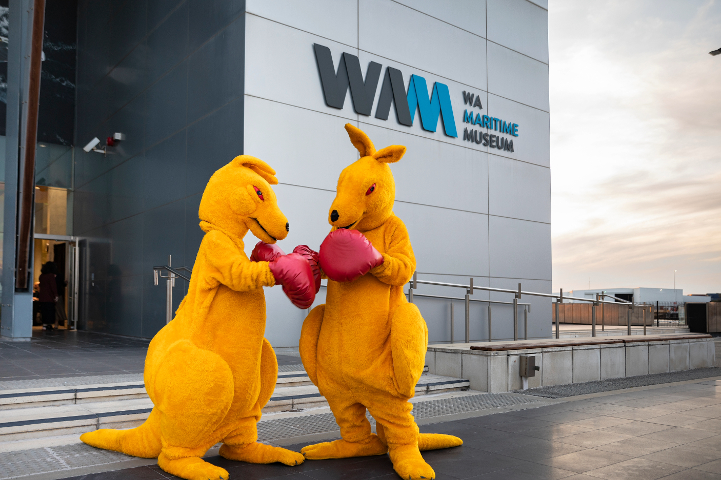
<path id="1" fill-rule="evenodd" d="M 549 0 L 553 291 L 721 292 L 721 0 Z"/>

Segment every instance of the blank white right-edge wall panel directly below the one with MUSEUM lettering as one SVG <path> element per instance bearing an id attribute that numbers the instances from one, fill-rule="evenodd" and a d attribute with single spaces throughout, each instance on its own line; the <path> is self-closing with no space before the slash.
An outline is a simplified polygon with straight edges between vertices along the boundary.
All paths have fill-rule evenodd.
<path id="1" fill-rule="evenodd" d="M 491 215 L 551 223 L 551 170 L 490 155 L 488 211 Z"/>

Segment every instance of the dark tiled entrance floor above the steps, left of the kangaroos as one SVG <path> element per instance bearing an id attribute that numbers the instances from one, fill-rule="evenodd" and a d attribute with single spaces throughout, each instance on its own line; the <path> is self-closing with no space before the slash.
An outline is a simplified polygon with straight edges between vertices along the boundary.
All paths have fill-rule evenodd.
<path id="1" fill-rule="evenodd" d="M 84 375 L 143 373 L 149 339 L 94 332 L 32 332 L 31 342 L 0 340 L 0 381 Z M 293 355 L 278 355 L 279 365 L 296 365 Z"/>

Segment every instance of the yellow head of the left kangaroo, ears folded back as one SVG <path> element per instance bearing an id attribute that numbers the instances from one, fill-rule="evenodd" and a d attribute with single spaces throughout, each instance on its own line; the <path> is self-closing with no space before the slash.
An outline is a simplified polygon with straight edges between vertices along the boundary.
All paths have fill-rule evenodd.
<path id="1" fill-rule="evenodd" d="M 247 231 L 267 244 L 288 235 L 288 218 L 278 208 L 270 185 L 275 170 L 255 156 L 236 156 L 213 174 L 200 200 L 200 228 L 218 228 L 242 239 Z"/>

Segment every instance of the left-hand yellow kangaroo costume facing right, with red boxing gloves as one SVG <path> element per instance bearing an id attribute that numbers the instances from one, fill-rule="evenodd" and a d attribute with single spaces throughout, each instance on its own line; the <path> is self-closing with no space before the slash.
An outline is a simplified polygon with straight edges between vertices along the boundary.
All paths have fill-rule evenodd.
<path id="1" fill-rule="evenodd" d="M 263 338 L 262 287 L 282 284 L 301 308 L 311 305 L 315 290 L 304 257 L 280 255 L 277 246 L 267 245 L 288 231 L 270 189 L 278 183 L 274 175 L 264 161 L 247 155 L 213 174 L 200 201 L 205 236 L 187 295 L 148 349 L 144 377 L 153 411 L 140 427 L 96 430 L 82 435 L 82 441 L 158 457 L 164 471 L 189 480 L 229 478 L 224 468 L 201 458 L 221 441 L 220 454 L 231 460 L 303 463 L 300 453 L 257 443 L 256 423 L 278 377 L 275 353 Z M 254 259 L 258 249 L 274 247 L 280 253 L 273 261 L 247 258 L 243 237 L 248 230 L 262 240 Z"/>

